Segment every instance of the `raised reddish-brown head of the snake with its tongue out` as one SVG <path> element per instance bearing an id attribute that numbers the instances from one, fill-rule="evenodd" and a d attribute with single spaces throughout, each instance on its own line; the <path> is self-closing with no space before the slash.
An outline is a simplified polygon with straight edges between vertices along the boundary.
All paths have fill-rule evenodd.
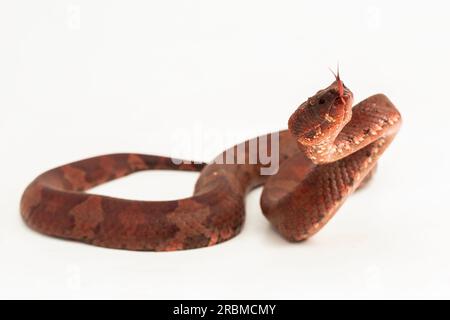
<path id="1" fill-rule="evenodd" d="M 352 116 L 353 94 L 336 76 L 327 88 L 303 102 L 289 118 L 289 131 L 304 146 L 334 139 Z"/>

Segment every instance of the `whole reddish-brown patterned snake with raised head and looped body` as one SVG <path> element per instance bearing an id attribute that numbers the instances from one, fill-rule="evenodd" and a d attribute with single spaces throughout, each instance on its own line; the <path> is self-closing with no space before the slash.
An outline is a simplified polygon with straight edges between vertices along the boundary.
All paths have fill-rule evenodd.
<path id="1" fill-rule="evenodd" d="M 236 236 L 245 221 L 246 195 L 263 186 L 260 205 L 273 229 L 288 242 L 304 241 L 367 184 L 400 125 L 399 111 L 384 94 L 353 106 L 353 93 L 338 73 L 300 104 L 287 129 L 270 134 L 276 139 L 258 136 L 210 163 L 120 153 L 65 164 L 28 185 L 20 212 L 26 225 L 52 237 L 115 249 L 185 250 Z M 262 146 L 278 157 L 271 174 L 262 174 L 268 169 L 261 161 Z M 234 161 L 216 161 L 225 157 Z M 193 196 L 177 200 L 89 193 L 143 170 L 194 171 L 199 177 Z"/>

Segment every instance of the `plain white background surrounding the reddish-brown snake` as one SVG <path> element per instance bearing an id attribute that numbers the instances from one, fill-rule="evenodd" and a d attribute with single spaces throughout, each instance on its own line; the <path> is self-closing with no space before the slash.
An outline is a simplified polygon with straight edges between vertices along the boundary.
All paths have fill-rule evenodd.
<path id="1" fill-rule="evenodd" d="M 450 298 L 448 1 L 2 1 L 0 298 Z M 370 188 L 290 244 L 247 201 L 242 233 L 184 252 L 37 234 L 19 200 L 39 173 L 111 152 L 208 161 L 286 127 L 340 62 L 355 99 L 404 125 Z M 189 196 L 148 172 L 98 193 Z"/>

